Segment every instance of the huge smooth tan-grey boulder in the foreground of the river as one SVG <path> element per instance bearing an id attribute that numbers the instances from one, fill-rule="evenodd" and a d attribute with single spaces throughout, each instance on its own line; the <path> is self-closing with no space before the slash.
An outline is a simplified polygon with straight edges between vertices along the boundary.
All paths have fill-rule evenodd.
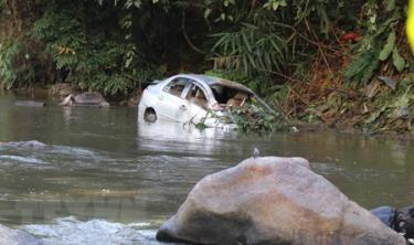
<path id="1" fill-rule="evenodd" d="M 208 175 L 158 231 L 197 244 L 405 245 L 301 158 L 247 159 Z"/>

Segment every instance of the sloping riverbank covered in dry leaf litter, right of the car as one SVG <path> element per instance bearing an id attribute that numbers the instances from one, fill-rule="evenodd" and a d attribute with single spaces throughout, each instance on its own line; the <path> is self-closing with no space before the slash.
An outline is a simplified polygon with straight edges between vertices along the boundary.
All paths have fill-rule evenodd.
<path id="1" fill-rule="evenodd" d="M 314 92 L 308 90 L 312 86 L 288 86 L 296 94 L 282 107 L 293 111 L 291 118 L 364 135 L 413 134 L 414 89 L 410 76 L 378 77 L 367 86 L 338 83 L 331 89 Z"/>

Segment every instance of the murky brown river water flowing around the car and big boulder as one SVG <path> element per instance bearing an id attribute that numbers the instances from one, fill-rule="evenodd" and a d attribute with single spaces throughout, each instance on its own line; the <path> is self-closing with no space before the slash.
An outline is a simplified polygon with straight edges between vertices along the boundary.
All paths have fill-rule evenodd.
<path id="1" fill-rule="evenodd" d="M 360 205 L 414 204 L 408 140 L 320 130 L 256 135 L 137 121 L 127 107 L 18 107 L 0 95 L 0 223 L 50 244 L 159 244 L 157 227 L 209 173 L 304 157 Z"/>

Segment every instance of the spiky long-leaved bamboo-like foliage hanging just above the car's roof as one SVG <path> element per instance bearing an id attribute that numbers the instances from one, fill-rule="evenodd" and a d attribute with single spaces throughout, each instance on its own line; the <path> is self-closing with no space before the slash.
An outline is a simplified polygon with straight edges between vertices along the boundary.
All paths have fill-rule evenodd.
<path id="1" fill-rule="evenodd" d="M 221 17 L 214 19 L 221 25 L 211 35 L 214 68 L 244 73 L 250 81 L 265 77 L 266 83 L 250 87 L 259 87 L 272 96 L 280 81 L 298 67 L 307 67 L 325 42 L 340 35 L 339 28 L 354 28 L 354 11 L 362 4 L 343 0 L 266 0 L 219 8 L 211 3 L 209 19 Z M 338 23 L 341 26 L 336 26 Z"/>

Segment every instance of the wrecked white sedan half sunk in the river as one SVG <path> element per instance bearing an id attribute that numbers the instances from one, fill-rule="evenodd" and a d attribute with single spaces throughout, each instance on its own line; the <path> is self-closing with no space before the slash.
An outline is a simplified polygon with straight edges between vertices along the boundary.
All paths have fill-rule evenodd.
<path id="1" fill-rule="evenodd" d="M 138 117 L 148 122 L 161 119 L 235 127 L 229 110 L 252 102 L 273 113 L 254 92 L 240 83 L 208 75 L 174 75 L 156 81 L 144 90 Z"/>

